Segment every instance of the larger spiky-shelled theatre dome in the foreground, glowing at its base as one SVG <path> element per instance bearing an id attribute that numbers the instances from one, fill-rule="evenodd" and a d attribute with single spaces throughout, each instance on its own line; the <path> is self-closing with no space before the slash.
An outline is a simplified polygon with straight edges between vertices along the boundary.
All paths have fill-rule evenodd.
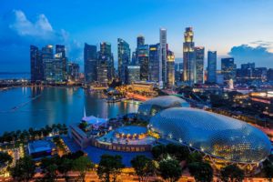
<path id="1" fill-rule="evenodd" d="M 149 129 L 209 157 L 254 164 L 269 156 L 271 144 L 262 131 L 245 122 L 195 108 L 175 107 L 157 113 Z"/>

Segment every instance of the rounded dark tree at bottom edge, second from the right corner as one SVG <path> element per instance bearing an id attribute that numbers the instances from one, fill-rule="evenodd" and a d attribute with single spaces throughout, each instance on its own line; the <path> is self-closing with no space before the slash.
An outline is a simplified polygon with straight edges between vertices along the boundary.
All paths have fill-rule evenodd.
<path id="1" fill-rule="evenodd" d="M 244 171 L 236 165 L 229 165 L 220 171 L 220 178 L 224 182 L 240 182 L 244 177 Z"/>

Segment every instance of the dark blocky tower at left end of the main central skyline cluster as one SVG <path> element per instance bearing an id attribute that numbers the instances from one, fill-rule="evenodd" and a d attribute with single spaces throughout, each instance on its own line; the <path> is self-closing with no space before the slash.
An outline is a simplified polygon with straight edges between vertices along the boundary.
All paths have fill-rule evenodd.
<path id="1" fill-rule="evenodd" d="M 95 82 L 97 80 L 96 45 L 85 44 L 84 61 L 86 82 Z"/>

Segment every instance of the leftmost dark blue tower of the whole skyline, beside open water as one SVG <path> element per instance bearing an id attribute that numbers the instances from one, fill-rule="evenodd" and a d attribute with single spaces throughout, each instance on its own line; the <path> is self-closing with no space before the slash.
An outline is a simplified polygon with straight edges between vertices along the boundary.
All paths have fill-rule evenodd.
<path id="1" fill-rule="evenodd" d="M 30 45 L 30 73 L 32 82 L 42 81 L 44 79 L 41 52 L 35 45 Z"/>

